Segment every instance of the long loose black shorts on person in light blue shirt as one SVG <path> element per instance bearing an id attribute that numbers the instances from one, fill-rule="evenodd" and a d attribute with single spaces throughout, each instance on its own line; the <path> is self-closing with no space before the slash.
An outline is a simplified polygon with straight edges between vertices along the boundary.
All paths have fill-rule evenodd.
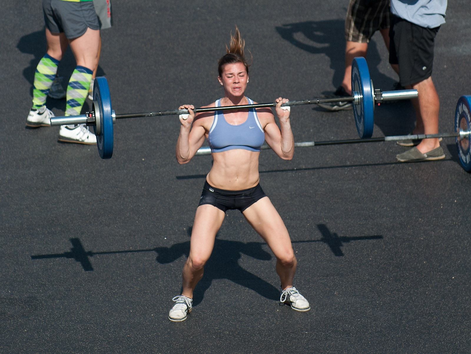
<path id="1" fill-rule="evenodd" d="M 430 78 L 439 27 L 427 28 L 391 16 L 389 62 L 399 64 L 399 82 L 413 85 Z"/>

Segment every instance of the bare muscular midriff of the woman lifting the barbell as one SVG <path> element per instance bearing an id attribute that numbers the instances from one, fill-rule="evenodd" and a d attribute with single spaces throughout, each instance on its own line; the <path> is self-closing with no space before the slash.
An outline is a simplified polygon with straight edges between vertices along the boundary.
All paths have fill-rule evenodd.
<path id="1" fill-rule="evenodd" d="M 259 183 L 260 152 L 232 149 L 212 154 L 213 165 L 206 176 L 208 183 L 219 189 L 242 190 Z"/>

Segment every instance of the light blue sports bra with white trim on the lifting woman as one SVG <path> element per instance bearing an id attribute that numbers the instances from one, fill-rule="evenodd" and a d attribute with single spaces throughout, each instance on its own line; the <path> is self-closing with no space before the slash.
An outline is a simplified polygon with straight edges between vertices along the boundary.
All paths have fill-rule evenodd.
<path id="1" fill-rule="evenodd" d="M 249 104 L 253 104 L 250 98 L 247 97 L 247 100 Z M 216 107 L 220 107 L 220 101 L 220 99 L 216 101 Z M 227 123 L 222 110 L 214 112 L 214 121 L 208 134 L 211 152 L 222 152 L 231 149 L 260 151 L 264 141 L 265 133 L 255 109 L 250 109 L 247 120 L 238 126 Z"/>

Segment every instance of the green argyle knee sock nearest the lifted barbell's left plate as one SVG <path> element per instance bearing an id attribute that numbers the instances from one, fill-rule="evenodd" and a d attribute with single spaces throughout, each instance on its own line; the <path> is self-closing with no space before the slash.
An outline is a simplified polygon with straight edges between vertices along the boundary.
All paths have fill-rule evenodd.
<path id="1" fill-rule="evenodd" d="M 76 66 L 67 86 L 65 99 L 66 116 L 78 116 L 88 94 L 93 71 L 83 66 Z"/>

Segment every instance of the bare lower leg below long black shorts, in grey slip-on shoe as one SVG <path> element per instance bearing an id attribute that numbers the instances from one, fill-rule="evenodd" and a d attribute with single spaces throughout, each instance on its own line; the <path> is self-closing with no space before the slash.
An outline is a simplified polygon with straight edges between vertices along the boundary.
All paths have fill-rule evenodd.
<path id="1" fill-rule="evenodd" d="M 440 100 L 432 78 L 409 85 L 406 88 L 414 88 L 419 93 L 419 97 L 412 100 L 417 117 L 413 134 L 438 134 Z M 417 145 L 417 149 L 424 154 L 438 148 L 439 145 L 439 139 L 423 139 Z"/>

